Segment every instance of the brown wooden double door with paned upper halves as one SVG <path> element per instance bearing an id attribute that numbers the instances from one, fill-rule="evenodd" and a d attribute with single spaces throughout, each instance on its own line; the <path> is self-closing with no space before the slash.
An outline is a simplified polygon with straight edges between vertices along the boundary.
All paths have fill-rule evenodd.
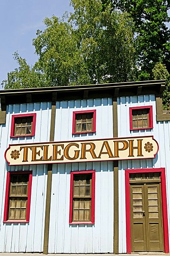
<path id="1" fill-rule="evenodd" d="M 130 183 L 132 252 L 163 252 L 160 182 Z"/>

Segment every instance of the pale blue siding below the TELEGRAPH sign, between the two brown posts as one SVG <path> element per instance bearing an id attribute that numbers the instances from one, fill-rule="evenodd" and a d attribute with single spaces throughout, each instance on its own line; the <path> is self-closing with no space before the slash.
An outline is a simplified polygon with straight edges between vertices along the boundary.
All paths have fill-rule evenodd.
<path id="1" fill-rule="evenodd" d="M 69 225 L 70 172 L 96 170 L 95 224 Z M 113 253 L 113 162 L 54 164 L 49 253 Z"/>

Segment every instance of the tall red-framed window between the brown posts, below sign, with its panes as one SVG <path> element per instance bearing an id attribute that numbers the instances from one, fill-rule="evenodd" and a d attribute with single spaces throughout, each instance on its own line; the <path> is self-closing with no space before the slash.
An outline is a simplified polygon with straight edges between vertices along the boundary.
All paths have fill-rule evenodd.
<path id="1" fill-rule="evenodd" d="M 95 171 L 71 172 L 70 223 L 95 223 Z"/>

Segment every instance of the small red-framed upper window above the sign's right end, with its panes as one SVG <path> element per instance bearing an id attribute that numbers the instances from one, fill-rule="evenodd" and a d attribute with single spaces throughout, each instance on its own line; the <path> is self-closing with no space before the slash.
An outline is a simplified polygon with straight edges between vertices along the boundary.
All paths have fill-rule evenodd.
<path id="1" fill-rule="evenodd" d="M 152 129 L 152 106 L 133 107 L 130 111 L 130 130 Z"/>

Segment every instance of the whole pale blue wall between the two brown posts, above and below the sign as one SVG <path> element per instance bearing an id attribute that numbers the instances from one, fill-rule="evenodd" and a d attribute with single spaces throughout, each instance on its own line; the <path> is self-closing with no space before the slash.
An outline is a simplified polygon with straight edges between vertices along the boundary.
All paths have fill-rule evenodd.
<path id="1" fill-rule="evenodd" d="M 72 135 L 73 111 L 96 109 L 96 133 Z M 112 99 L 56 103 L 55 141 L 113 138 Z M 69 225 L 70 172 L 96 170 L 95 224 Z M 53 165 L 49 253 L 113 252 L 113 163 Z"/>

